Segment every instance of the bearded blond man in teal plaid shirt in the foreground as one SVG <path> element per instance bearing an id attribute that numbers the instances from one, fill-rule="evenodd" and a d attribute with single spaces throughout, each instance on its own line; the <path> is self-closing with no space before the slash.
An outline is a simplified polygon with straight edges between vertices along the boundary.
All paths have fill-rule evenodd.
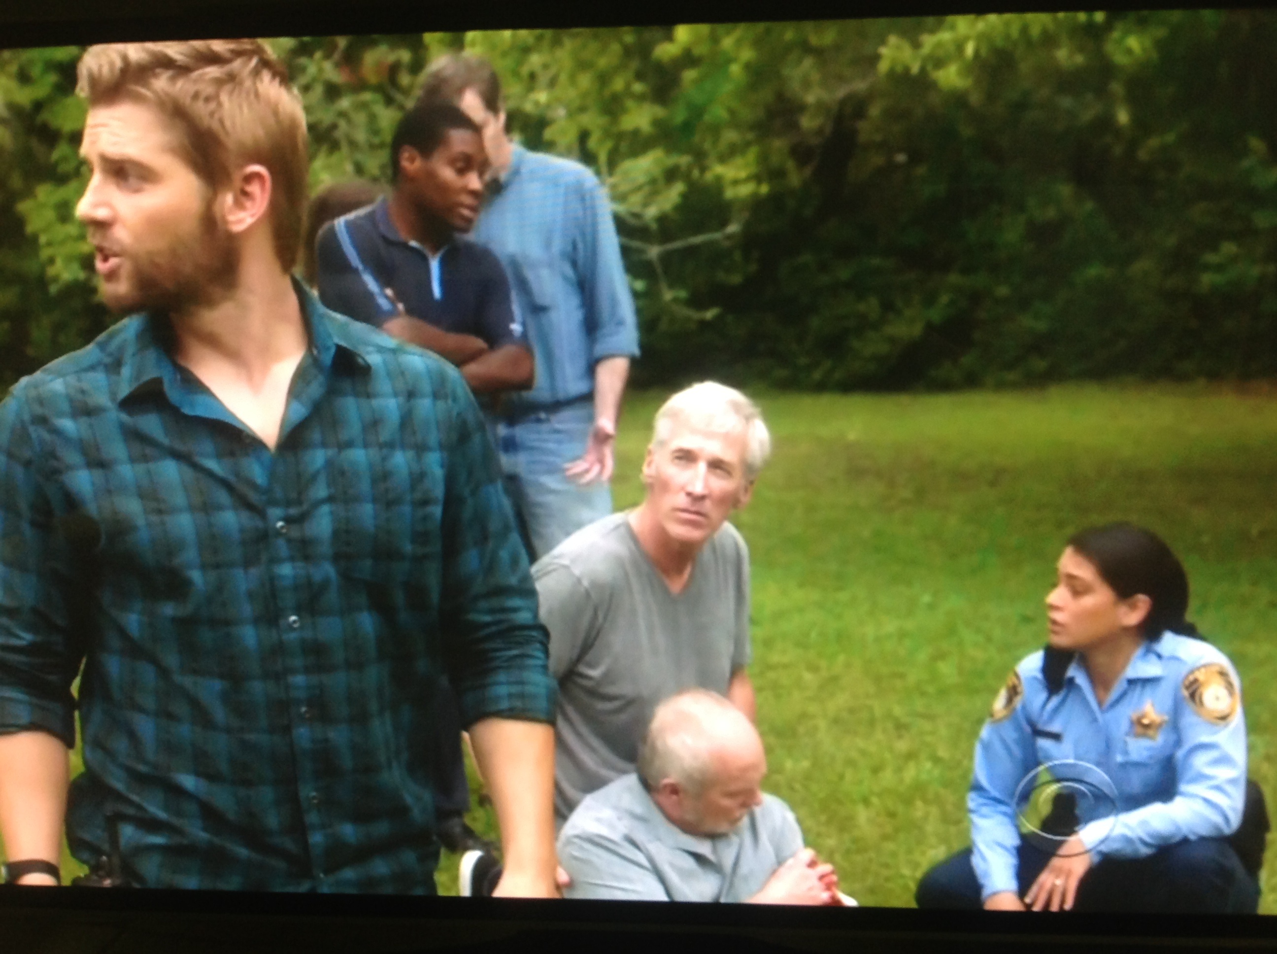
<path id="1" fill-rule="evenodd" d="M 96 46 L 79 91 L 78 215 L 132 317 L 0 404 L 9 880 L 60 880 L 65 820 L 130 885 L 432 893 L 442 670 L 498 893 L 554 894 L 554 685 L 483 418 L 290 276 L 283 68 L 248 40 Z"/>

